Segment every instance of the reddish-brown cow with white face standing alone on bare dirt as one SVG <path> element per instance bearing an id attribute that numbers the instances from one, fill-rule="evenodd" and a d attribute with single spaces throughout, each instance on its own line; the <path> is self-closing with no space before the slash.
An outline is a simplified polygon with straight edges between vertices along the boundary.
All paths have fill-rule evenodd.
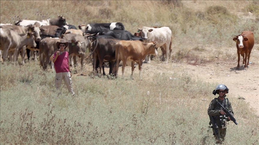
<path id="1" fill-rule="evenodd" d="M 233 38 L 233 40 L 237 42 L 236 44 L 237 56 L 238 56 L 237 69 L 239 69 L 240 67 L 239 66 L 240 54 L 243 56 L 243 65 L 245 65 L 244 68 L 247 69 L 249 67 L 250 53 L 255 44 L 254 33 L 251 31 L 243 31 L 240 35 L 235 35 L 235 36 L 236 37 Z"/>

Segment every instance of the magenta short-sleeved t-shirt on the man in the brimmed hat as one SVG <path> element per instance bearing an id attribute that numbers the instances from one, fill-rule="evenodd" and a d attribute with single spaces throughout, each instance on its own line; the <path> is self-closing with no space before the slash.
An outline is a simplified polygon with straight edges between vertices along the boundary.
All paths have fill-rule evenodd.
<path id="1" fill-rule="evenodd" d="M 56 53 L 54 53 L 53 59 L 56 56 Z M 56 73 L 63 73 L 63 72 L 69 72 L 68 70 L 68 52 L 64 51 L 61 55 L 58 55 L 58 58 L 54 62 Z"/>

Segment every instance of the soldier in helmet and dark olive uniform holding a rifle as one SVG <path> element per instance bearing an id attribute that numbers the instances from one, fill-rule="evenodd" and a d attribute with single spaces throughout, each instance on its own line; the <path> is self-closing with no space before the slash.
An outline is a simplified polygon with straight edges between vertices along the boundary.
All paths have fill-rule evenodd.
<path id="1" fill-rule="evenodd" d="M 229 112 L 234 115 L 234 112 L 232 110 L 231 102 L 228 101 L 228 98 L 226 97 L 226 94 L 228 93 L 228 87 L 226 87 L 224 84 L 219 84 L 216 86 L 216 89 L 212 92 L 214 95 L 219 94 L 218 98 L 214 98 L 210 102 L 210 106 L 208 108 L 208 115 L 210 115 L 215 123 L 217 124 L 217 131 L 213 128 L 213 135 L 215 137 L 217 144 L 222 144 L 222 142 L 225 139 L 225 135 L 227 132 L 227 121 L 230 121 L 231 119 L 229 116 L 226 115 L 226 112 L 222 110 L 222 107 L 216 103 L 218 101 L 222 104 Z M 211 120 L 212 121 L 212 120 Z"/>

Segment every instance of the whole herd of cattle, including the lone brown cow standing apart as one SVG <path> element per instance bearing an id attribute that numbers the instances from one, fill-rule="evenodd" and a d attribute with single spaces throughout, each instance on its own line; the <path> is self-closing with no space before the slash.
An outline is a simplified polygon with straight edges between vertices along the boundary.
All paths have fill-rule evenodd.
<path id="1" fill-rule="evenodd" d="M 84 59 L 93 55 L 93 71 L 100 70 L 99 73 L 101 73 L 101 68 L 103 68 L 104 75 L 103 64 L 105 62 L 109 62 L 109 74 L 116 75 L 119 63 L 123 61 L 122 74 L 125 65 L 128 64 L 132 66 L 133 75 L 136 62 L 140 76 L 142 62 L 150 63 L 150 55 L 158 55 L 158 47 L 161 48 L 162 57 L 166 63 L 168 57 L 171 59 L 172 32 L 169 27 L 142 27 L 142 29 L 138 28 L 138 33 L 134 35 L 126 31 L 120 22 L 95 23 L 78 27 L 79 29 L 69 25 L 63 16 L 42 21 L 19 20 L 15 25 L 1 24 L 0 48 L 3 51 L 1 54 L 3 61 L 6 61 L 7 55 L 10 61 L 16 61 L 18 54 L 21 53 L 24 64 L 25 51 L 27 51 L 28 59 L 33 54 L 34 60 L 37 60 L 36 51 L 38 51 L 40 65 L 45 70 L 50 58 L 58 50 L 56 42 L 61 39 L 68 41 L 69 46 L 66 51 L 69 53 L 71 66 L 74 62 L 76 64 L 76 56 L 81 57 L 83 67 Z M 233 40 L 237 42 L 237 68 L 240 67 L 240 54 L 243 56 L 243 65 L 247 68 L 254 45 L 254 34 L 251 31 L 243 31 Z M 85 57 L 87 48 L 92 53 Z M 52 71 L 54 71 L 52 61 L 51 64 Z"/>

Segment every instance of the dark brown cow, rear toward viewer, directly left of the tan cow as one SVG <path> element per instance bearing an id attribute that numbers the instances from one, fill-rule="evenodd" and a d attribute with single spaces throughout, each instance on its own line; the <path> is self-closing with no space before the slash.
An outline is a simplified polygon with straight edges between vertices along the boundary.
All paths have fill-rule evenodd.
<path id="1" fill-rule="evenodd" d="M 103 75 L 105 75 L 103 64 L 104 62 L 109 62 L 109 75 L 112 74 L 112 68 L 115 62 L 115 44 L 119 42 L 118 39 L 111 39 L 110 36 L 106 36 L 107 38 L 93 37 L 96 41 L 93 41 L 93 71 L 100 69 L 99 73 L 101 74 L 101 68 L 103 68 Z M 91 56 L 91 54 L 89 56 Z M 88 57 L 89 57 L 88 56 Z M 99 60 L 99 66 L 97 66 L 97 61 Z"/>

